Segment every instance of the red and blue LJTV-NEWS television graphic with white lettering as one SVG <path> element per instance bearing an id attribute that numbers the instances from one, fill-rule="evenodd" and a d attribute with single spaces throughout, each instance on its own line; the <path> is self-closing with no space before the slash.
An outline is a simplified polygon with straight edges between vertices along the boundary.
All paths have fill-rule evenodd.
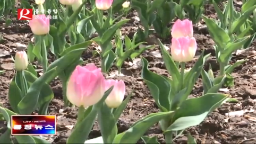
<path id="1" fill-rule="evenodd" d="M 12 115 L 12 135 L 55 135 L 56 115 Z"/>

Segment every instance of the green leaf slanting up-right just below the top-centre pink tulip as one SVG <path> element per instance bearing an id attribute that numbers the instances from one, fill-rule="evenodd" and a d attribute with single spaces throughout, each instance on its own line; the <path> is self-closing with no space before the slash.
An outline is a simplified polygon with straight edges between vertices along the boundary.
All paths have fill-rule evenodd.
<path id="1" fill-rule="evenodd" d="M 123 24 L 128 22 L 130 19 L 121 20 L 118 23 L 111 26 L 107 31 L 104 32 L 103 36 L 100 39 L 101 44 L 104 46 L 109 41 L 111 41 L 116 33 L 116 30 L 119 29 Z"/>

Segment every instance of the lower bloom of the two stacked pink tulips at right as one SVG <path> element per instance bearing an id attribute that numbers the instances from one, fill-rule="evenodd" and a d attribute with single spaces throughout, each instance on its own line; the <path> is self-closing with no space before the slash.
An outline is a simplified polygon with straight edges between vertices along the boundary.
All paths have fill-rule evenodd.
<path id="1" fill-rule="evenodd" d="M 197 42 L 195 38 L 181 37 L 173 38 L 170 52 L 175 61 L 186 62 L 191 61 L 197 51 Z"/>

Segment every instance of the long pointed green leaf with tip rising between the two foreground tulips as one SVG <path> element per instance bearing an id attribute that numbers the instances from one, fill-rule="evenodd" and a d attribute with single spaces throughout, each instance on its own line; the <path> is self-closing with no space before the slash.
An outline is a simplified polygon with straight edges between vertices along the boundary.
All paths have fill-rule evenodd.
<path id="1" fill-rule="evenodd" d="M 103 106 L 104 101 L 106 100 L 107 96 L 112 91 L 113 86 L 105 92 L 101 100 L 93 105 L 91 112 L 83 119 L 83 121 L 76 123 L 75 129 L 70 134 L 70 137 L 67 138 L 66 143 L 84 143 L 91 132 L 93 124 L 95 123 L 96 116 L 98 111 L 100 110 L 101 106 Z"/>

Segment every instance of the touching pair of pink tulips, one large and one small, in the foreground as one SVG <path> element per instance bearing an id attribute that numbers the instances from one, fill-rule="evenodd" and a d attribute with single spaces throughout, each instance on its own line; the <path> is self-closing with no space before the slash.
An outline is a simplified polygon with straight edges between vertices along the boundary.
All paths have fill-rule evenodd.
<path id="1" fill-rule="evenodd" d="M 67 99 L 74 105 L 88 107 L 98 103 L 104 93 L 114 86 L 105 103 L 112 108 L 118 107 L 125 95 L 123 80 L 106 80 L 101 69 L 94 64 L 76 66 L 67 83 Z"/>

